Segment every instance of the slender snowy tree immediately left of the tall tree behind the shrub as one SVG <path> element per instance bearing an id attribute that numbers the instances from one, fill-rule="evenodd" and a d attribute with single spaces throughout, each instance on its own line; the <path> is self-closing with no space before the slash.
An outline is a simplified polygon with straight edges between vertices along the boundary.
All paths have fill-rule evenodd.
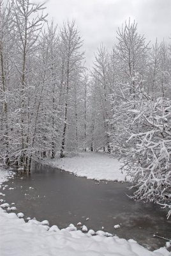
<path id="1" fill-rule="evenodd" d="M 109 94 L 112 93 L 114 86 L 112 64 L 113 63 L 110 63 L 110 55 L 108 54 L 107 49 L 101 45 L 96 52 L 93 70 L 91 72 L 94 90 L 96 91 L 92 93 L 92 97 L 94 98 L 92 104 L 96 105 L 96 118 L 94 122 L 96 131 L 94 130 L 94 144 L 96 144 L 96 149 L 103 147 L 104 151 L 105 147 L 107 147 L 108 153 L 110 153 L 109 119 L 111 118 Z M 99 135 L 100 138 L 98 138 Z"/>

